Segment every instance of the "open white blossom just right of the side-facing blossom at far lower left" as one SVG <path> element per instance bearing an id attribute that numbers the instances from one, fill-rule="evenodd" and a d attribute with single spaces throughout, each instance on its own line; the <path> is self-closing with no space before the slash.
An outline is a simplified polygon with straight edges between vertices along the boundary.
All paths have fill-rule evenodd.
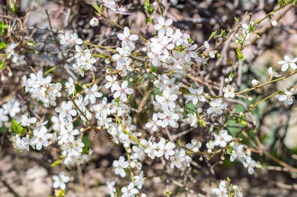
<path id="1" fill-rule="evenodd" d="M 42 127 L 39 131 L 37 129 L 33 130 L 34 137 L 31 139 L 31 143 L 36 145 L 37 150 L 41 150 L 42 146 L 48 146 L 48 140 L 50 138 L 50 134 L 47 133 L 47 129 Z"/>

